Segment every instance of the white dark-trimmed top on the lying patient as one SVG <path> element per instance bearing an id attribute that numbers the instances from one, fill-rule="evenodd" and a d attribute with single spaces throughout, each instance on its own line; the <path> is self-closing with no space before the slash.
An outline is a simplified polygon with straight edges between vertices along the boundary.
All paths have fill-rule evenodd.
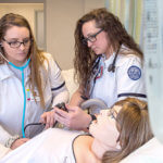
<path id="1" fill-rule="evenodd" d="M 50 128 L 7 154 L 0 163 L 75 163 L 73 142 L 79 131 Z"/>

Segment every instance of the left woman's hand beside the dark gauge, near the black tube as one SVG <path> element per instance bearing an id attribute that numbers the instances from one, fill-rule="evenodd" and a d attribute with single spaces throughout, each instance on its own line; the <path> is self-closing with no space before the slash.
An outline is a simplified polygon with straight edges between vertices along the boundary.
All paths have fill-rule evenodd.
<path id="1" fill-rule="evenodd" d="M 54 110 L 51 110 L 49 112 L 45 112 L 41 116 L 40 116 L 40 123 L 46 124 L 46 129 L 49 127 L 53 127 L 55 121 L 54 121 Z"/>

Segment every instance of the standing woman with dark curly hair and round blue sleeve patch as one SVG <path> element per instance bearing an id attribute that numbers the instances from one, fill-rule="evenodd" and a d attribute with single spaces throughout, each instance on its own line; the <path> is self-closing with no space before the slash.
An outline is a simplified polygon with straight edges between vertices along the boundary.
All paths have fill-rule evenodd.
<path id="1" fill-rule="evenodd" d="M 70 105 L 87 99 L 100 99 L 110 108 L 126 97 L 146 100 L 143 54 L 120 20 L 106 9 L 97 9 L 78 20 L 75 29 L 74 67 L 79 88 Z M 85 129 L 93 114 L 79 108 L 70 113 L 55 110 L 55 120 L 73 129 Z"/>

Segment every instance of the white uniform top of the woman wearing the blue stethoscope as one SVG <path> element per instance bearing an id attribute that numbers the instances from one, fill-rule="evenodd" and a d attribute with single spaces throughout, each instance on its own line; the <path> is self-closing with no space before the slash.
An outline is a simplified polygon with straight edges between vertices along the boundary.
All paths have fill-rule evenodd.
<path id="1" fill-rule="evenodd" d="M 51 54 L 45 53 L 48 62 L 45 61 L 43 66 L 47 74 L 43 73 L 43 97 L 46 110 L 40 106 L 40 98 L 37 96 L 34 100 L 33 93 L 29 90 L 29 73 L 27 66 L 24 70 L 24 82 L 26 91 L 26 111 L 24 126 L 29 123 L 38 123 L 40 115 L 59 102 L 66 102 L 68 100 L 68 92 L 65 83 L 61 76 L 61 71 L 57 63 L 53 61 Z M 20 70 L 17 70 L 20 71 Z M 36 95 L 38 91 L 35 90 Z M 65 93 L 63 93 L 65 92 Z M 62 97 L 61 97 L 62 96 Z M 22 116 L 23 116 L 24 95 L 22 82 L 16 74 L 5 64 L 0 64 L 0 143 L 4 145 L 7 140 L 14 136 L 22 136 Z M 36 129 L 37 128 L 37 129 Z M 39 128 L 39 129 L 38 129 Z M 25 135 L 30 138 L 40 131 L 42 126 L 27 127 Z"/>

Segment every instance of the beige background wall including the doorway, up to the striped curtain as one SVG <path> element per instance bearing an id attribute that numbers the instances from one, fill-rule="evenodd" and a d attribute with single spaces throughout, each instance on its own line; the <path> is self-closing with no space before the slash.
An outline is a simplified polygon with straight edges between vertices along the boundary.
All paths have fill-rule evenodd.
<path id="1" fill-rule="evenodd" d="M 50 52 L 62 70 L 67 70 L 73 67 L 74 30 L 77 20 L 95 8 L 103 8 L 105 0 L 5 0 L 5 2 L 0 0 L 0 17 L 9 12 L 24 15 L 30 23 L 38 46 Z M 41 26 L 41 18 L 36 18 L 36 11 L 43 11 L 41 18 L 45 21 L 45 28 Z M 45 39 L 45 46 L 40 39 Z"/>

